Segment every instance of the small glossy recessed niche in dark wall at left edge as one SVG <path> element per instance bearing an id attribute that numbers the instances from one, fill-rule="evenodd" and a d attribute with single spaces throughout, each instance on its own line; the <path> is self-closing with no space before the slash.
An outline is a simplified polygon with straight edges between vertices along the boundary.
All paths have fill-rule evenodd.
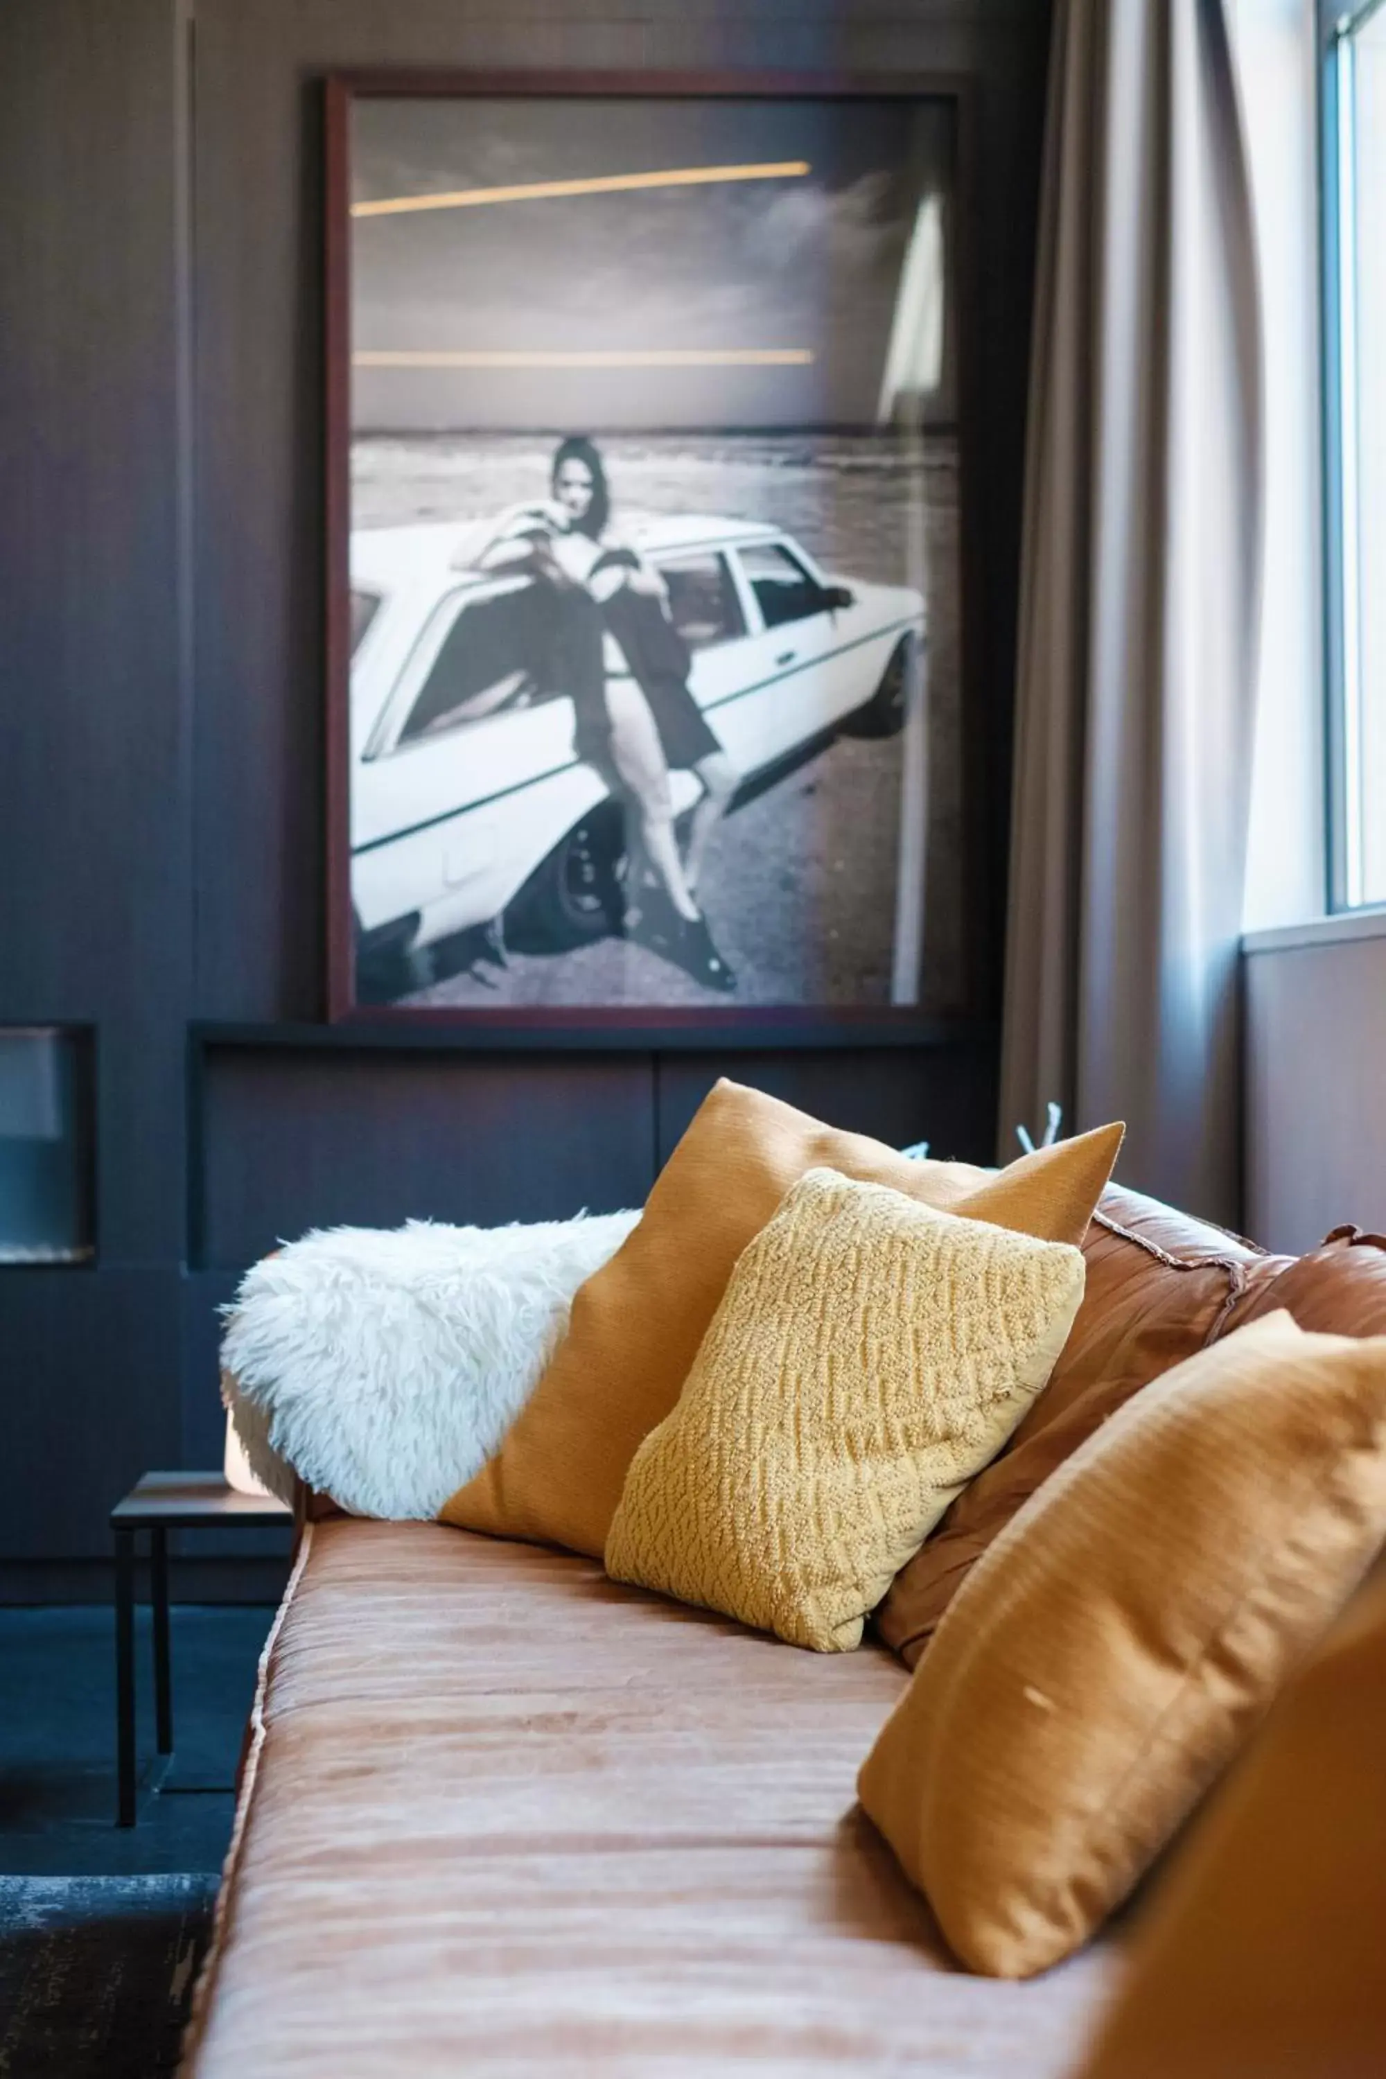
<path id="1" fill-rule="evenodd" d="M 0 1025 L 0 1268 L 96 1258 L 91 1031 Z"/>

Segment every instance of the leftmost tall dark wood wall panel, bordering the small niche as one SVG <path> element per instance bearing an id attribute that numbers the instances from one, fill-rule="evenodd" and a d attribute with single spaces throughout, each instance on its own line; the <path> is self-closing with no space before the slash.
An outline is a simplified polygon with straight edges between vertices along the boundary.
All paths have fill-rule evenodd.
<path id="1" fill-rule="evenodd" d="M 0 1019 L 98 1025 L 106 1264 L 181 1239 L 181 58 L 170 0 L 0 10 Z"/>

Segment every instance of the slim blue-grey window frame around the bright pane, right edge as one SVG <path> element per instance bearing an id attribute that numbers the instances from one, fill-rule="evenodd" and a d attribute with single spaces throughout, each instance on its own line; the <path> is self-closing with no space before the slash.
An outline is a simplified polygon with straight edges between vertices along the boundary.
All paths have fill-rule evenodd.
<path id="1" fill-rule="evenodd" d="M 1361 663 L 1357 603 L 1357 252 L 1351 195 L 1355 37 L 1386 0 L 1330 4 L 1320 23 L 1320 347 L 1324 370 L 1324 778 L 1328 909 L 1380 909 L 1363 892 Z"/>

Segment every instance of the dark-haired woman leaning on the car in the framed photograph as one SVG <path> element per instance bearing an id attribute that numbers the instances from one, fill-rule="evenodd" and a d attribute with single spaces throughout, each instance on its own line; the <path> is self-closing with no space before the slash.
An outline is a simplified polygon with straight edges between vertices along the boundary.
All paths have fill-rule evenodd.
<path id="1" fill-rule="evenodd" d="M 561 684 L 571 694 L 578 757 L 634 802 L 640 844 L 628 859 L 625 931 L 711 990 L 736 975 L 698 909 L 709 836 L 736 790 L 736 769 L 688 686 L 688 647 L 669 620 L 657 570 L 611 530 L 607 472 L 592 441 L 567 439 L 551 470 L 553 503 L 519 511 L 486 551 L 488 568 L 528 561 L 555 595 Z M 702 784 L 682 857 L 669 773 Z"/>

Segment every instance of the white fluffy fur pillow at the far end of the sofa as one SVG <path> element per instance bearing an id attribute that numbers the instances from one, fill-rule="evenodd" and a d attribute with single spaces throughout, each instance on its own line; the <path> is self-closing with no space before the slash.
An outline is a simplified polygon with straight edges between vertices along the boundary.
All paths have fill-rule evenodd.
<path id="1" fill-rule="evenodd" d="M 283 1499 L 297 1472 L 357 1516 L 436 1516 L 638 1218 L 335 1227 L 256 1264 L 222 1337 L 222 1397 L 251 1470 Z"/>

